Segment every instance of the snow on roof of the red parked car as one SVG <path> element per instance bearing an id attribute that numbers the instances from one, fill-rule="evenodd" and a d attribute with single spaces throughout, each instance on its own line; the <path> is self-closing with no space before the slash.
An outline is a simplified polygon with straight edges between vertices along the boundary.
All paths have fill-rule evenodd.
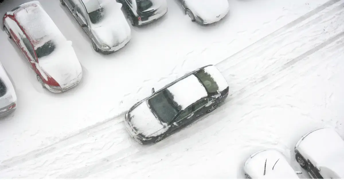
<path id="1" fill-rule="evenodd" d="M 27 3 L 14 11 L 14 16 L 24 28 L 34 46 L 51 39 L 65 40 L 61 31 L 38 1 Z"/>

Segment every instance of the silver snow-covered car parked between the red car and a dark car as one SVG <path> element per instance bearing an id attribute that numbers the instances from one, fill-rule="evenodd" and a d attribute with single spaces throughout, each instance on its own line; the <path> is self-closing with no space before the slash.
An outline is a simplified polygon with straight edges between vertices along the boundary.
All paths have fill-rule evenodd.
<path id="1" fill-rule="evenodd" d="M 124 47 L 131 39 L 129 24 L 116 1 L 60 0 L 88 34 L 93 49 L 109 54 Z"/>

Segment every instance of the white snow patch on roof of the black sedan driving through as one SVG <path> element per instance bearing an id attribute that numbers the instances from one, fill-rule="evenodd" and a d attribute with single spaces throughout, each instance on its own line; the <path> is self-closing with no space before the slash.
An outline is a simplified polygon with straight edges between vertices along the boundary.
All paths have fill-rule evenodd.
<path id="1" fill-rule="evenodd" d="M 181 110 L 208 96 L 205 87 L 193 74 L 168 87 L 167 90 L 172 93 L 173 101 L 182 107 Z"/>

